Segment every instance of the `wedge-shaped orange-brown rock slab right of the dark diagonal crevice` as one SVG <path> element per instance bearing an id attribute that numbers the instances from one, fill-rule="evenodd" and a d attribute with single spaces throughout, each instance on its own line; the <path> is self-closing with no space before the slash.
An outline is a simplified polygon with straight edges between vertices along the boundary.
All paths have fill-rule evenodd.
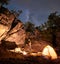
<path id="1" fill-rule="evenodd" d="M 24 44 L 25 30 L 22 29 L 22 23 L 18 22 L 17 25 L 7 34 L 6 41 L 16 42 L 17 45 Z"/>

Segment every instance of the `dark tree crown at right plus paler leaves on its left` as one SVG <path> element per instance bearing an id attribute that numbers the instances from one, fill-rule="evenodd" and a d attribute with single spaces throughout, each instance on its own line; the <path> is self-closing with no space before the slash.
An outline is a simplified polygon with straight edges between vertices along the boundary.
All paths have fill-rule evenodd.
<path id="1" fill-rule="evenodd" d="M 50 30 L 60 30 L 60 15 L 57 14 L 57 12 L 51 13 L 48 16 L 48 21 L 45 22 L 44 24 L 42 24 L 40 26 L 41 30 L 46 30 L 46 29 L 50 29 Z M 53 32 L 52 31 L 52 32 Z"/>

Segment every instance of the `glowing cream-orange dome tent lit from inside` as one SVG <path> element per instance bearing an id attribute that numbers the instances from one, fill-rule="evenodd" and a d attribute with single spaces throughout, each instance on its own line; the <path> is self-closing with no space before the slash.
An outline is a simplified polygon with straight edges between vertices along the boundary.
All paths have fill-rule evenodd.
<path id="1" fill-rule="evenodd" d="M 49 46 L 49 45 L 47 45 L 47 46 L 43 49 L 42 55 L 43 55 L 43 56 L 48 56 L 48 57 L 50 57 L 51 59 L 57 59 L 57 54 L 56 54 L 55 50 L 54 50 L 51 46 Z"/>

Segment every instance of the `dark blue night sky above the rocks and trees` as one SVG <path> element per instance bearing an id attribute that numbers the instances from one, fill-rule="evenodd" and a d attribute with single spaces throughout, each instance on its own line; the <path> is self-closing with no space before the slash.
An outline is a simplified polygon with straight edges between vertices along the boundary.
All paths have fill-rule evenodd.
<path id="1" fill-rule="evenodd" d="M 47 21 L 51 12 L 60 13 L 60 0 L 11 0 L 7 7 L 10 10 L 23 10 L 19 16 L 22 22 L 31 21 L 40 25 Z"/>

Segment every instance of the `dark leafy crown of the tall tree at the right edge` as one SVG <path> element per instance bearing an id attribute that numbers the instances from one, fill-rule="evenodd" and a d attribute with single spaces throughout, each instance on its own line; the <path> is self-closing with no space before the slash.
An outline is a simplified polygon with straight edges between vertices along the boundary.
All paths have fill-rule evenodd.
<path id="1" fill-rule="evenodd" d="M 55 30 L 60 27 L 60 16 L 57 15 L 57 12 L 51 13 L 49 15 L 47 25 L 50 28 L 55 28 Z"/>

